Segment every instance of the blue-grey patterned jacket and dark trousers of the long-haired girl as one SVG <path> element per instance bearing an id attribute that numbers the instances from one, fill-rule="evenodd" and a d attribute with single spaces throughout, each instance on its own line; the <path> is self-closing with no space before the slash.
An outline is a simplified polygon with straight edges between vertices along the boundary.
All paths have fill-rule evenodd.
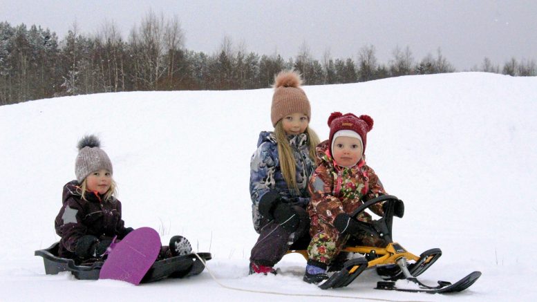
<path id="1" fill-rule="evenodd" d="M 254 229 L 260 234 L 252 248 L 250 261 L 258 265 L 274 266 L 288 251 L 289 245 L 298 240 L 309 242 L 309 218 L 305 207 L 310 202 L 308 180 L 315 169 L 315 163 L 309 155 L 308 135 L 288 135 L 289 143 L 296 162 L 296 189 L 289 189 L 281 173 L 278 157 L 278 145 L 272 132 L 259 134 L 257 150 L 250 162 L 249 191 L 252 198 L 252 220 Z M 294 209 L 303 213 L 299 229 L 288 232 L 272 220 L 267 220 L 258 211 L 258 204 L 269 191 L 276 191 L 282 198 L 292 203 Z M 303 238 L 308 237 L 308 238 Z"/>

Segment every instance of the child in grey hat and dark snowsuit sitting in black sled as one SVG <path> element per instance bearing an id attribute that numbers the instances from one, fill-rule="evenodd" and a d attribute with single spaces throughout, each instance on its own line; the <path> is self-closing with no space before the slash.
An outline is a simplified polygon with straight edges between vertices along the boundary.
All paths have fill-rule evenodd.
<path id="1" fill-rule="evenodd" d="M 58 256 L 91 263 L 102 261 L 113 238 L 121 240 L 133 228 L 125 227 L 121 202 L 115 198 L 112 162 L 100 149 L 100 140 L 93 135 L 85 136 L 78 149 L 77 179 L 64 185 L 62 208 L 54 224 L 61 237 Z M 173 236 L 170 243 L 173 248 L 163 247 L 161 257 L 191 252 L 190 243 L 182 236 Z"/>

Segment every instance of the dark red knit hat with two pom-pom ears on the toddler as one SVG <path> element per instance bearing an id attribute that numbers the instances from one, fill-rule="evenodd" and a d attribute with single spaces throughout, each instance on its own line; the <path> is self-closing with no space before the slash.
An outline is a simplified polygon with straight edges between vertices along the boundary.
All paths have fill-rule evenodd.
<path id="1" fill-rule="evenodd" d="M 342 114 L 341 112 L 334 112 L 328 117 L 328 126 L 330 127 L 328 146 L 332 146 L 332 139 L 337 131 L 350 130 L 360 135 L 364 153 L 366 153 L 367 133 L 373 129 L 373 119 L 369 115 L 360 115 L 357 117 L 352 113 Z"/>

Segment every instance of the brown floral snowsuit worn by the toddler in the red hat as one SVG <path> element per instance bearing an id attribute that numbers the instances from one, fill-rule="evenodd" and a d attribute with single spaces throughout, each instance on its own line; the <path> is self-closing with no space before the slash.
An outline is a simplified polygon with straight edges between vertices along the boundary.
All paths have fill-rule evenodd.
<path id="1" fill-rule="evenodd" d="M 335 163 L 329 151 L 328 140 L 317 146 L 317 169 L 310 179 L 309 189 L 311 202 L 308 205 L 310 214 L 310 235 L 312 240 L 308 247 L 310 262 L 330 265 L 339 254 L 349 235 L 341 236 L 334 227 L 338 214 L 352 213 L 367 200 L 385 195 L 384 187 L 364 160 L 353 167 L 340 167 Z M 370 207 L 373 213 L 382 216 L 382 206 Z M 372 218 L 365 211 L 358 220 L 370 223 Z M 365 232 L 353 234 L 364 245 L 384 247 L 386 242 Z"/>

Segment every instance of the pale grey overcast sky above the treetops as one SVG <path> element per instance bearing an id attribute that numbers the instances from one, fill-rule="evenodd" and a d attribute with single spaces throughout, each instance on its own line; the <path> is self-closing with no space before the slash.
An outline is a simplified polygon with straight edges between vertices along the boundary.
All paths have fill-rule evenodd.
<path id="1" fill-rule="evenodd" d="M 76 21 L 93 35 L 115 23 L 127 39 L 153 10 L 174 15 L 189 50 L 214 53 L 224 37 L 260 55 L 295 57 L 302 45 L 321 59 L 357 58 L 373 45 L 388 63 L 396 46 L 408 46 L 416 61 L 442 54 L 458 70 L 484 57 L 502 66 L 508 59 L 537 60 L 537 1 L 172 1 L 172 0 L 0 0 L 0 21 L 40 25 L 62 39 Z"/>

